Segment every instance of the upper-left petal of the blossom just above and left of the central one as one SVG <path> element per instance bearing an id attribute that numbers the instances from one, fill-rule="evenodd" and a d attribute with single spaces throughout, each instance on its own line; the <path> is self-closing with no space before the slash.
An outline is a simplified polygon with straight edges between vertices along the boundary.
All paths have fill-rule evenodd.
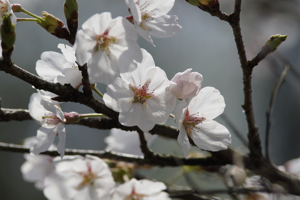
<path id="1" fill-rule="evenodd" d="M 107 30 L 111 20 L 112 16 L 109 12 L 104 12 L 101 14 L 96 13 L 82 24 L 82 29 L 83 31 L 91 30 L 97 35 L 101 35 Z"/>

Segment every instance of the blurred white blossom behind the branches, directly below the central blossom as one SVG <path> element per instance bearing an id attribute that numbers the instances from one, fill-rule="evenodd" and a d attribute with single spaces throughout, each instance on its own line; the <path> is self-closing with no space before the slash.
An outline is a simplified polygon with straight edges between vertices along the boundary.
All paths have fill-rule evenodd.
<path id="1" fill-rule="evenodd" d="M 144 133 L 147 144 L 155 140 L 156 135 Z M 117 151 L 125 154 L 144 155 L 140 148 L 140 139 L 137 131 L 125 131 L 113 128 L 110 130 L 110 135 L 104 139 L 107 143 L 105 149 L 110 151 Z"/>

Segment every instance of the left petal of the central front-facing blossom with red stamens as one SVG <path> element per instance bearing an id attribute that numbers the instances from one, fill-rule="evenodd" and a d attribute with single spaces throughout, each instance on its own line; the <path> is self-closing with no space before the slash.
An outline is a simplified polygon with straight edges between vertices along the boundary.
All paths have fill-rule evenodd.
<path id="1" fill-rule="evenodd" d="M 103 96 L 104 103 L 116 112 L 126 112 L 131 109 L 134 91 L 121 78 L 117 77 L 113 84 L 107 85 Z"/>

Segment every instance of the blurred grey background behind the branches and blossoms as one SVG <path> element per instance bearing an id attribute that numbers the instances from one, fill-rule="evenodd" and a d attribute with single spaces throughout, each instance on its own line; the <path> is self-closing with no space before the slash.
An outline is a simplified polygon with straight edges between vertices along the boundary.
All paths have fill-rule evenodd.
<path id="1" fill-rule="evenodd" d="M 19 0 L 10 1 L 19 3 L 28 11 L 41 15 L 42 11 L 65 22 L 63 0 L 39 1 Z M 90 16 L 105 11 L 111 12 L 112 17 L 127 16 L 128 7 L 120 0 L 89 0 L 79 3 L 79 28 Z M 234 0 L 220 1 L 221 10 L 227 14 L 233 12 Z M 287 160 L 300 156 L 300 1 L 299 0 L 248 0 L 242 2 L 241 30 L 247 59 L 252 59 L 268 38 L 274 34 L 286 34 L 276 52 L 268 55 L 253 70 L 252 89 L 255 120 L 264 148 L 266 118 L 271 90 L 279 77 L 284 64 L 292 64 L 292 70 L 281 87 L 272 114 L 270 136 L 271 159 L 276 165 L 282 165 Z M 226 103 L 224 114 L 246 138 L 247 127 L 242 112 L 243 102 L 242 70 L 231 27 L 227 22 L 203 12 L 184 0 L 176 0 L 170 15 L 177 15 L 182 25 L 180 34 L 158 39 L 152 37 L 156 47 L 153 47 L 143 38 L 138 42 L 141 48 L 150 52 L 155 64 L 165 70 L 169 79 L 178 72 L 193 68 L 203 76 L 202 87 L 212 86 L 223 95 Z M 17 17 L 25 17 L 16 13 Z M 16 25 L 17 38 L 12 60 L 19 67 L 36 74 L 35 63 L 44 51 L 60 52 L 59 43 L 68 44 L 47 33 L 35 22 L 18 22 Z M 69 44 L 68 44 L 69 45 Z M 0 96 L 2 107 L 10 109 L 28 109 L 29 98 L 36 92 L 26 82 L 0 71 Z M 98 88 L 104 93 L 105 85 Z M 63 103 L 64 112 L 76 111 L 79 113 L 93 112 L 86 106 L 75 103 Z M 230 148 L 247 153 L 228 124 L 222 118 L 216 119 L 225 125 L 232 133 Z M 172 120 L 167 122 L 175 125 Z M 34 121 L 1 122 L 0 142 L 18 143 L 22 139 L 35 136 L 39 125 Z M 66 148 L 102 150 L 106 144 L 103 139 L 109 131 L 100 131 L 76 125 L 66 125 Z M 56 140 L 55 140 L 56 142 Z M 183 156 L 182 150 L 175 140 L 158 139 L 152 149 L 161 153 L 173 153 Z M 201 151 L 193 148 L 194 151 Z M 22 154 L 0 151 L 0 199 L 45 199 L 43 193 L 34 188 L 34 184 L 23 181 L 20 166 L 25 161 Z M 141 173 L 165 180 L 172 178 L 178 168 L 153 168 Z M 199 187 L 213 177 L 207 174 L 196 175 Z M 184 184 L 184 178 L 179 179 Z M 186 184 L 186 183 L 185 183 Z M 215 188 L 216 189 L 216 188 Z"/>

